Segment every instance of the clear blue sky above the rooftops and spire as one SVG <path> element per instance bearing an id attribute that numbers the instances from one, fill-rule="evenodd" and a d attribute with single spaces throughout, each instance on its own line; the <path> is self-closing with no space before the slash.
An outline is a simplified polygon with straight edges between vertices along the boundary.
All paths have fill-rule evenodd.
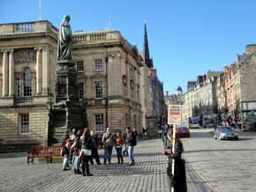
<path id="1" fill-rule="evenodd" d="M 0 23 L 39 19 L 39 0 L 0 0 Z M 41 0 L 41 18 L 59 26 L 71 15 L 72 30 L 109 27 L 143 48 L 143 24 L 164 90 L 222 66 L 256 43 L 255 0 Z"/>

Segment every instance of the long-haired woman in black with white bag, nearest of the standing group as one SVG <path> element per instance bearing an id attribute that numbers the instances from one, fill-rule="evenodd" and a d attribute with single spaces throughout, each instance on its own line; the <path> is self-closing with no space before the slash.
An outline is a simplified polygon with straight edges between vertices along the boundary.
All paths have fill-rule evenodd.
<path id="1" fill-rule="evenodd" d="M 92 176 L 93 174 L 90 174 L 90 171 L 89 171 L 89 160 L 92 155 L 93 141 L 90 135 L 90 130 L 88 128 L 84 129 L 84 133 L 80 138 L 80 145 L 81 145 L 81 151 L 83 151 L 82 174 L 83 176 Z M 87 166 L 87 174 L 85 170 L 86 166 Z"/>

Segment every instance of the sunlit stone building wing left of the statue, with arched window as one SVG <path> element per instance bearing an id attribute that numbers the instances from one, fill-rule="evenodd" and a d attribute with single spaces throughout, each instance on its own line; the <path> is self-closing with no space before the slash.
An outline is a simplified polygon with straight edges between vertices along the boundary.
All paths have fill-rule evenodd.
<path id="1" fill-rule="evenodd" d="M 0 25 L 0 143 L 48 140 L 57 29 L 49 21 Z"/>

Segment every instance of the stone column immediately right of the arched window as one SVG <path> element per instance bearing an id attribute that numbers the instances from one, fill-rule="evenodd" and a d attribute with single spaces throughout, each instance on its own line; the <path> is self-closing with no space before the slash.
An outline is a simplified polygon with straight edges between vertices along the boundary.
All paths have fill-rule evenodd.
<path id="1" fill-rule="evenodd" d="M 36 48 L 36 94 L 41 94 L 41 48 Z"/>

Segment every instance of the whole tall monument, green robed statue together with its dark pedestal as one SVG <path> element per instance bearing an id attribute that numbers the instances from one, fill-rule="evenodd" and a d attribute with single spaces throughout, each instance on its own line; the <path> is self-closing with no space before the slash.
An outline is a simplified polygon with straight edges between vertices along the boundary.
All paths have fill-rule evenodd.
<path id="1" fill-rule="evenodd" d="M 85 105 L 79 102 L 77 70 L 72 61 L 72 29 L 65 15 L 59 27 L 56 63 L 56 100 L 49 115 L 49 144 L 61 142 L 65 129 L 87 126 Z"/>

